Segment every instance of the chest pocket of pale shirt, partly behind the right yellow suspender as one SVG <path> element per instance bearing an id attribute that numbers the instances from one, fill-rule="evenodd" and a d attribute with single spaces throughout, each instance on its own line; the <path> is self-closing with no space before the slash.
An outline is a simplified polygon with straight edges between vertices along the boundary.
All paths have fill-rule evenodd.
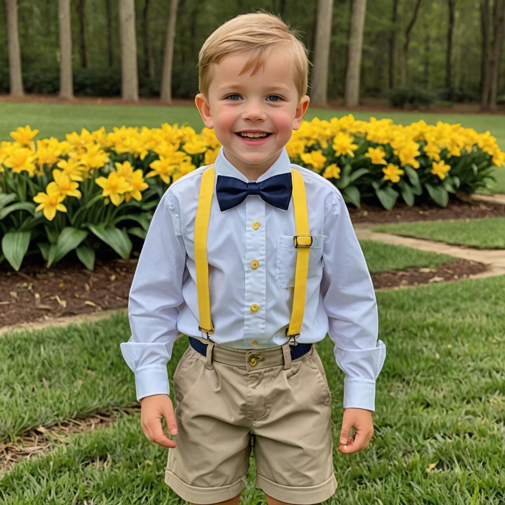
<path id="1" fill-rule="evenodd" d="M 324 235 L 312 235 L 313 241 L 309 251 L 309 268 L 307 279 L 321 277 L 323 273 L 323 239 Z M 277 269 L 275 278 L 281 288 L 294 286 L 297 249 L 293 246 L 292 235 L 279 235 L 277 241 Z"/>

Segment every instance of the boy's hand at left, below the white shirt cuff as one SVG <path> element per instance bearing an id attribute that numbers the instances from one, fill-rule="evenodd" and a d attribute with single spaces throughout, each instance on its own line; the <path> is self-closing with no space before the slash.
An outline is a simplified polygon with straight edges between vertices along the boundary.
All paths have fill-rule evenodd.
<path id="1" fill-rule="evenodd" d="M 177 435 L 174 406 L 168 394 L 153 394 L 140 398 L 140 426 L 150 442 L 163 447 L 175 448 L 177 442 L 163 432 L 161 419 L 165 418 L 172 435 Z"/>

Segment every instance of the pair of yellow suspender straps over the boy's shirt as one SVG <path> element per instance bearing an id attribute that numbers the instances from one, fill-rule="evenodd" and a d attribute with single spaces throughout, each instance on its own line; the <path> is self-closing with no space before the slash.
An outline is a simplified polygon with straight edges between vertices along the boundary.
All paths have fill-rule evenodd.
<path id="1" fill-rule="evenodd" d="M 214 173 L 213 165 L 202 174 L 194 225 L 194 256 L 199 312 L 198 329 L 206 332 L 207 336 L 214 333 L 209 294 L 209 264 L 207 262 L 207 233 L 209 230 L 209 218 L 214 191 Z M 291 312 L 291 321 L 286 328 L 286 336 L 296 337 L 300 334 L 301 325 L 304 320 L 307 274 L 312 236 L 309 231 L 309 215 L 307 211 L 304 179 L 300 172 L 293 168 L 291 169 L 291 177 L 293 182 L 292 198 L 296 226 L 296 235 L 293 237 L 293 247 L 297 249 L 297 252 L 293 308 Z"/>

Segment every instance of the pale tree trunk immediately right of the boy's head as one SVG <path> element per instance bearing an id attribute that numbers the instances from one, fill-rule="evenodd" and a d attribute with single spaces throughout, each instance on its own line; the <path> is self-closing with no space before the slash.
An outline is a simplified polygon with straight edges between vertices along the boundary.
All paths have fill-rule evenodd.
<path id="1" fill-rule="evenodd" d="M 311 98 L 316 106 L 327 105 L 328 103 L 328 65 L 330 59 L 332 20 L 333 0 L 319 0 L 314 46 L 314 73 L 311 79 Z"/>

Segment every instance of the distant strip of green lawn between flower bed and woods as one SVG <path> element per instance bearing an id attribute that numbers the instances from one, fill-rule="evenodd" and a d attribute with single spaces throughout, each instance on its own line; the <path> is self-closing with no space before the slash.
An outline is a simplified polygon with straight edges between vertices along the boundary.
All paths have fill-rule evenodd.
<path id="1" fill-rule="evenodd" d="M 330 119 L 349 114 L 347 111 L 311 109 L 305 119 L 314 117 Z M 505 121 L 502 116 L 483 114 L 434 114 L 425 112 L 351 112 L 356 119 L 369 120 L 371 116 L 391 118 L 395 123 L 410 124 L 424 119 L 428 124 L 437 121 L 461 123 L 466 128 L 475 128 L 484 133 L 489 130 L 496 137 L 501 150 L 505 150 Z M 80 131 L 81 128 L 96 130 L 105 126 L 112 131 L 114 126 L 159 127 L 162 123 L 184 122 L 196 131 L 203 123 L 196 107 L 131 106 L 131 105 L 71 105 L 71 104 L 29 104 L 0 102 L 0 141 L 11 140 L 9 133 L 18 126 L 29 124 L 40 130 L 38 138 L 55 136 L 64 139 L 65 134 Z M 505 193 L 505 169 L 494 171 L 497 183 L 495 192 Z"/>

